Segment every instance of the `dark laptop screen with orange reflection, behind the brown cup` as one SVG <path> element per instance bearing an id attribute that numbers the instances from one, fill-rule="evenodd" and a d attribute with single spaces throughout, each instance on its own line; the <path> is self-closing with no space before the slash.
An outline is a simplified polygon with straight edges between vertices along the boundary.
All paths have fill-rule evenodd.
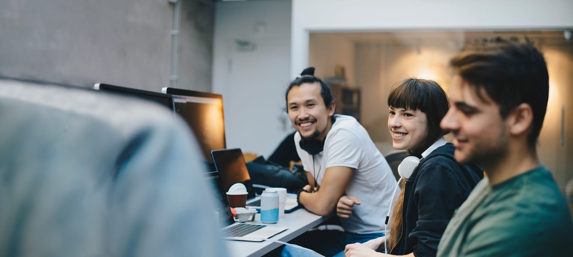
<path id="1" fill-rule="evenodd" d="M 243 158 L 241 149 L 222 149 L 211 151 L 215 168 L 221 176 L 223 192 L 229 191 L 231 185 L 243 183 L 247 188 L 247 198 L 255 196 L 253 184 L 250 181 L 249 171 Z"/>

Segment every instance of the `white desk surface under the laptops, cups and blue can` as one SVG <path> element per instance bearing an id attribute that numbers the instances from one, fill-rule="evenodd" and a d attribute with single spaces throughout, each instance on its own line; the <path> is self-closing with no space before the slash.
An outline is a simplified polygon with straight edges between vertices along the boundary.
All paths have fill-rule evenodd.
<path id="1" fill-rule="evenodd" d="M 254 224 L 261 223 L 261 213 L 257 213 L 257 218 Z M 304 232 L 310 230 L 313 227 L 318 226 L 320 223 L 324 222 L 331 216 L 319 216 L 314 213 L 307 211 L 307 209 L 301 208 L 293 211 L 291 213 L 285 213 L 285 216 L 278 219 L 276 224 L 263 224 L 278 227 L 288 227 L 288 230 L 282 231 L 279 234 L 274 235 L 270 239 L 279 240 L 282 242 L 289 242 L 289 240 L 296 238 L 297 236 L 303 234 Z M 274 248 L 281 246 L 282 244 L 274 242 L 248 242 L 248 241 L 236 241 L 236 240 L 225 240 L 227 244 L 227 250 L 229 250 L 229 256 L 232 257 L 258 257 L 272 251 Z"/>

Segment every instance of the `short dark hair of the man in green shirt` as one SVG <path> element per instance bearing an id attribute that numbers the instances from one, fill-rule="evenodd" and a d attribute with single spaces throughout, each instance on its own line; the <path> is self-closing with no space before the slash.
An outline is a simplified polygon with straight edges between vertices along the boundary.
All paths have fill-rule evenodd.
<path id="1" fill-rule="evenodd" d="M 493 37 L 466 44 L 450 60 L 457 74 L 472 86 L 480 99 L 481 89 L 500 106 L 506 118 L 518 105 L 533 110 L 528 143 L 535 145 L 541 131 L 549 97 L 549 75 L 543 54 L 529 39 Z"/>

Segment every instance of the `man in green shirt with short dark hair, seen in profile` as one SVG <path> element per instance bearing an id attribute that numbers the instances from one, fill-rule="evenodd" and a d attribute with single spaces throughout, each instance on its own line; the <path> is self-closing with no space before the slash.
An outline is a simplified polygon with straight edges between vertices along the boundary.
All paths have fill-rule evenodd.
<path id="1" fill-rule="evenodd" d="M 573 222 L 536 140 L 549 92 L 547 65 L 531 42 L 480 39 L 450 61 L 456 160 L 487 177 L 454 213 L 437 256 L 573 256 Z"/>

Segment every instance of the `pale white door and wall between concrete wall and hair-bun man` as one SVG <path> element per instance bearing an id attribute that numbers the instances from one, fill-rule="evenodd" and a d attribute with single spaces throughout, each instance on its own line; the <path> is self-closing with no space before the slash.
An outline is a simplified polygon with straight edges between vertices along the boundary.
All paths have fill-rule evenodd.
<path id="1" fill-rule="evenodd" d="M 282 110 L 290 31 L 291 1 L 217 2 L 213 92 L 223 95 L 227 148 L 268 157 L 292 131 Z M 239 50 L 236 39 L 255 47 Z"/>

